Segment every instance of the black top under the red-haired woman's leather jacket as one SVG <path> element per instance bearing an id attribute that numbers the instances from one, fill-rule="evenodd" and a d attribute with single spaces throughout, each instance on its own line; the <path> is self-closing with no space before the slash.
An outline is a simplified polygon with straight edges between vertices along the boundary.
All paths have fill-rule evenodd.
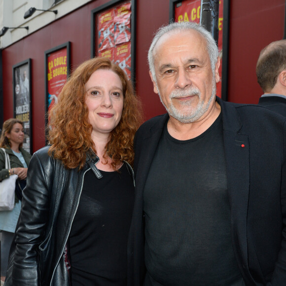
<path id="1" fill-rule="evenodd" d="M 84 175 L 70 233 L 72 286 L 126 286 L 127 238 L 134 184 L 126 164 L 119 172 Z"/>

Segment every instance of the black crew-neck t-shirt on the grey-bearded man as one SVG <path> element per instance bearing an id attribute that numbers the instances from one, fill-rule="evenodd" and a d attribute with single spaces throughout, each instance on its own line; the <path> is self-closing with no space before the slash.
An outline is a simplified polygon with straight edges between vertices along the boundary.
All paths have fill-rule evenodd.
<path id="1" fill-rule="evenodd" d="M 186 141 L 165 125 L 143 210 L 146 286 L 243 285 L 231 242 L 221 115 Z"/>

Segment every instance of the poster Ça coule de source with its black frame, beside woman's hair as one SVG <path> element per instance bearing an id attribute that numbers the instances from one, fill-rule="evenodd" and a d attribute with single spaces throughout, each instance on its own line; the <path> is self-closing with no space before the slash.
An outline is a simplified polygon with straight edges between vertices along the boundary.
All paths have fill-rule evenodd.
<path id="1" fill-rule="evenodd" d="M 45 51 L 46 126 L 49 121 L 48 112 L 57 103 L 58 95 L 70 74 L 70 50 L 71 42 L 66 42 Z"/>

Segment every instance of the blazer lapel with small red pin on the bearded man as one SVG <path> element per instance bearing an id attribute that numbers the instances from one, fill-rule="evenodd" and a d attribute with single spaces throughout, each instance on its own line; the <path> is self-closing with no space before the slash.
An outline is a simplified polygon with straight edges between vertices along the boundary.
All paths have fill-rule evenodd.
<path id="1" fill-rule="evenodd" d="M 217 99 L 223 120 L 227 190 L 231 211 L 231 233 L 235 256 L 247 281 L 253 281 L 248 268 L 247 214 L 250 187 L 249 136 L 240 134 L 242 123 L 234 106 Z"/>

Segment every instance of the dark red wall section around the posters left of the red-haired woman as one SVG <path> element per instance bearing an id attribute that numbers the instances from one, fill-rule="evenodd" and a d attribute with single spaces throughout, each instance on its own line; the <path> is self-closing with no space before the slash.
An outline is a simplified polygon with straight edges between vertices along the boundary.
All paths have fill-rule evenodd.
<path id="1" fill-rule="evenodd" d="M 45 74 L 44 52 L 71 41 L 71 65 L 90 58 L 91 11 L 107 0 L 93 1 L 73 13 L 2 50 L 4 120 L 13 117 L 12 66 L 32 59 L 32 131 L 33 150 L 45 145 Z"/>

